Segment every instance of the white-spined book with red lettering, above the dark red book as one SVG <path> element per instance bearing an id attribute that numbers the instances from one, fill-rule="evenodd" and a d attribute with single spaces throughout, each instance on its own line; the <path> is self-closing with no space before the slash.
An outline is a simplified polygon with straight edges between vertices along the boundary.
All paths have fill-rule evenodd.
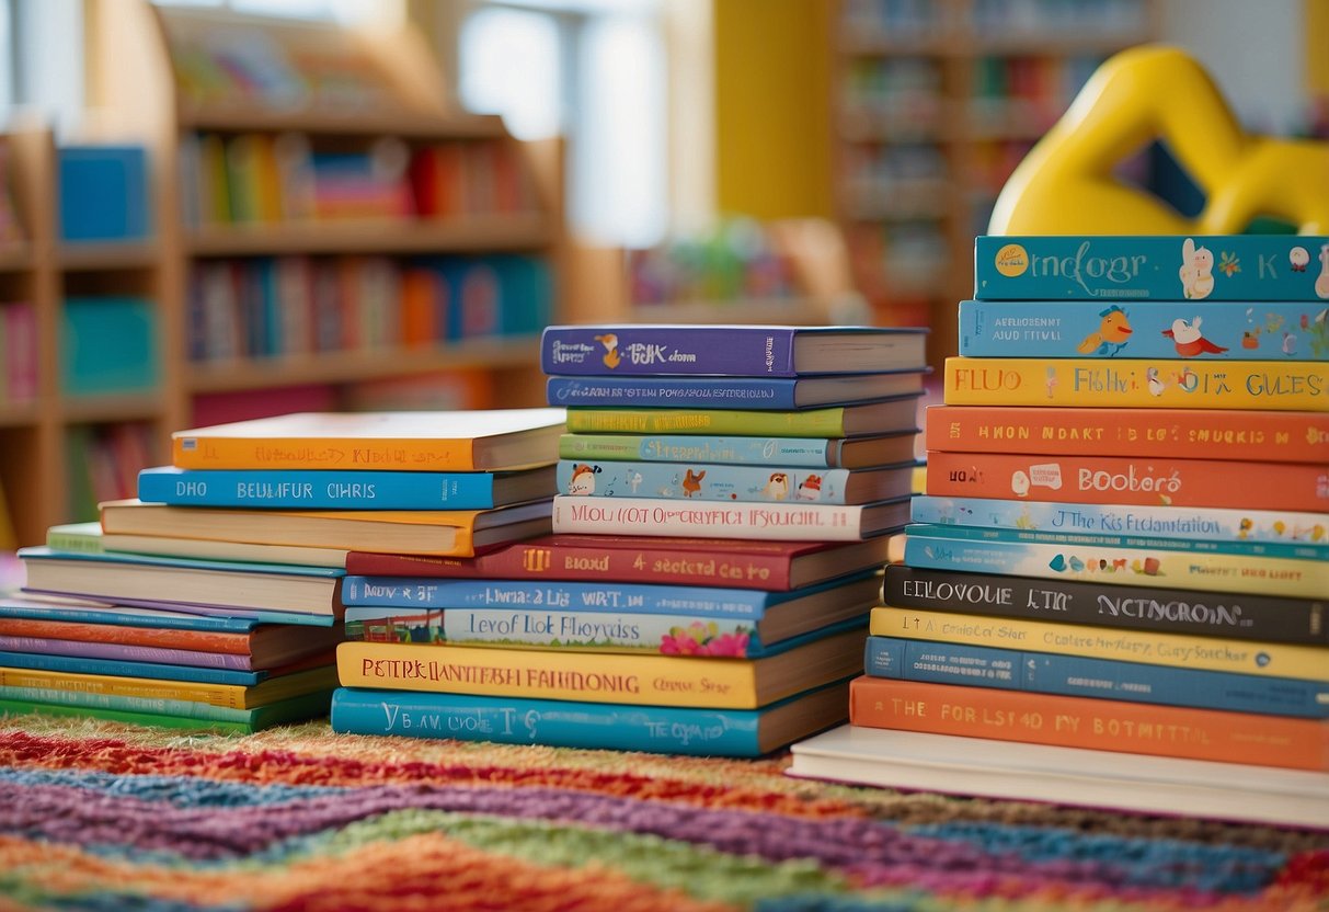
<path id="1" fill-rule="evenodd" d="M 908 516 L 909 497 L 876 504 L 679 504 L 654 497 L 554 497 L 556 533 L 855 541 L 900 529 Z"/>

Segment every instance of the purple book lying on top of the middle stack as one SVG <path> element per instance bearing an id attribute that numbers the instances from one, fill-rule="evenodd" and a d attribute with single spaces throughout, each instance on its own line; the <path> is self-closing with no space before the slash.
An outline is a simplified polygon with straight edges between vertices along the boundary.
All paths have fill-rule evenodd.
<path id="1" fill-rule="evenodd" d="M 795 326 L 550 326 L 545 374 L 800 376 L 922 371 L 922 328 Z"/>

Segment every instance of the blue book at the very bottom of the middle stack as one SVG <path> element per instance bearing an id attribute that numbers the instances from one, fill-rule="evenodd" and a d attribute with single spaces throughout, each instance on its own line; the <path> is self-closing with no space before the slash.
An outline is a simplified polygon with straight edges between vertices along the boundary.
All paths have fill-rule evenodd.
<path id="1" fill-rule="evenodd" d="M 691 756 L 760 756 L 839 725 L 848 714 L 849 690 L 844 681 L 759 710 L 573 703 L 351 687 L 340 687 L 332 694 L 332 731 L 342 734 Z"/>

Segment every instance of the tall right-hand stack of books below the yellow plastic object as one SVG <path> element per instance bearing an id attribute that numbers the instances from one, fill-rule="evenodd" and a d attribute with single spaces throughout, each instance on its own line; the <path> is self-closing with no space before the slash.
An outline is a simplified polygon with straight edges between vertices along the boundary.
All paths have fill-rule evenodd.
<path id="1" fill-rule="evenodd" d="M 857 730 L 796 772 L 928 787 L 991 750 L 978 794 L 1322 824 L 1329 239 L 985 237 L 975 262 Z"/>

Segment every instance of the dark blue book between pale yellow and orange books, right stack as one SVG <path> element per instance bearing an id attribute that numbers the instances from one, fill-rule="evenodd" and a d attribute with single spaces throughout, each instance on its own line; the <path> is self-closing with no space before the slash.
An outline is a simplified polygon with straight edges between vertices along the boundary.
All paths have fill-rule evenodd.
<path id="1" fill-rule="evenodd" d="M 864 670 L 876 678 L 1329 718 L 1329 685 L 1314 681 L 926 639 L 868 637 Z"/>

